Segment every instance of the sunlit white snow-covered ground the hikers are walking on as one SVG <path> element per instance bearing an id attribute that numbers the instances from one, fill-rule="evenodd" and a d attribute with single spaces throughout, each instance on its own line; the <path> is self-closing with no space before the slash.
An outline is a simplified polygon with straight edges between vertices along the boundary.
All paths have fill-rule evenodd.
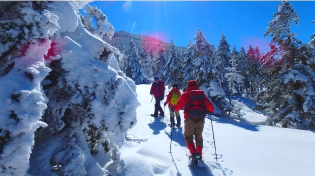
<path id="1" fill-rule="evenodd" d="M 315 170 L 315 133 L 312 131 L 264 126 L 266 117 L 251 110 L 247 99 L 234 100 L 245 113 L 243 118 L 213 116 L 218 154 L 215 158 L 210 119 L 203 131 L 203 160 L 200 170 L 189 167 L 184 128 L 173 130 L 166 116 L 153 118 L 151 85 L 138 85 L 137 124 L 128 131 L 121 153 L 126 176 L 311 176 Z M 169 90 L 166 91 L 166 93 Z M 162 103 L 161 103 L 162 105 Z M 183 119 L 183 112 L 180 112 Z M 260 124 L 260 125 L 259 125 Z M 184 125 L 184 124 L 183 124 Z M 171 147 L 171 152 L 170 152 Z"/>

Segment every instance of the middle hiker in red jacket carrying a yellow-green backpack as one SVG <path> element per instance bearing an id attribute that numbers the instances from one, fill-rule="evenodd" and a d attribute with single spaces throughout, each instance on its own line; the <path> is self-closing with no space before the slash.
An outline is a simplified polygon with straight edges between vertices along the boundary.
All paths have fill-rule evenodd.
<path id="1" fill-rule="evenodd" d="M 178 128 L 181 127 L 181 116 L 179 114 L 179 111 L 172 111 L 172 107 L 176 104 L 178 99 L 181 97 L 181 92 L 178 90 L 178 84 L 173 84 L 172 90 L 168 93 L 166 101 L 164 102 L 164 107 L 168 103 L 168 109 L 169 109 L 169 116 L 171 118 L 171 127 L 175 127 L 175 119 L 174 119 L 174 112 L 176 116 L 176 126 Z"/>

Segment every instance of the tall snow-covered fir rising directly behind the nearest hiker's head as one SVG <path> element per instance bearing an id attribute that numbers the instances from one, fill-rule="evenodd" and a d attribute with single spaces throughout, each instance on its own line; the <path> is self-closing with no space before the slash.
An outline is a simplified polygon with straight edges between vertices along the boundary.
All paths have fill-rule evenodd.
<path id="1" fill-rule="evenodd" d="M 200 29 L 197 29 L 195 41 L 193 78 L 218 107 L 218 111 L 215 113 L 227 115 L 231 106 L 225 100 L 225 93 L 221 85 L 223 76 L 216 68 L 216 50 L 212 44 L 207 42 Z"/>

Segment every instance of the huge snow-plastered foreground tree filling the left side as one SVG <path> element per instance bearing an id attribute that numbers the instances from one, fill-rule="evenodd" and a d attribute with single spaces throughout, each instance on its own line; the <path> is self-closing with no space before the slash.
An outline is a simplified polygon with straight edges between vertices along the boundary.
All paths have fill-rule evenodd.
<path id="1" fill-rule="evenodd" d="M 139 103 L 119 50 L 100 39 L 113 35 L 106 16 L 69 1 L 0 5 L 0 175 L 122 172 Z"/>

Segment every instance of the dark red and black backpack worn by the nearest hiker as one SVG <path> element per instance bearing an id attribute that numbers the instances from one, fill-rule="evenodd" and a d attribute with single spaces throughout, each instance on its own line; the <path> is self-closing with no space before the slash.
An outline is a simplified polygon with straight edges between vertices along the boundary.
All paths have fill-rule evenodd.
<path id="1" fill-rule="evenodd" d="M 202 90 L 191 90 L 188 92 L 189 102 L 185 109 L 190 118 L 204 118 L 206 117 L 206 96 Z"/>

